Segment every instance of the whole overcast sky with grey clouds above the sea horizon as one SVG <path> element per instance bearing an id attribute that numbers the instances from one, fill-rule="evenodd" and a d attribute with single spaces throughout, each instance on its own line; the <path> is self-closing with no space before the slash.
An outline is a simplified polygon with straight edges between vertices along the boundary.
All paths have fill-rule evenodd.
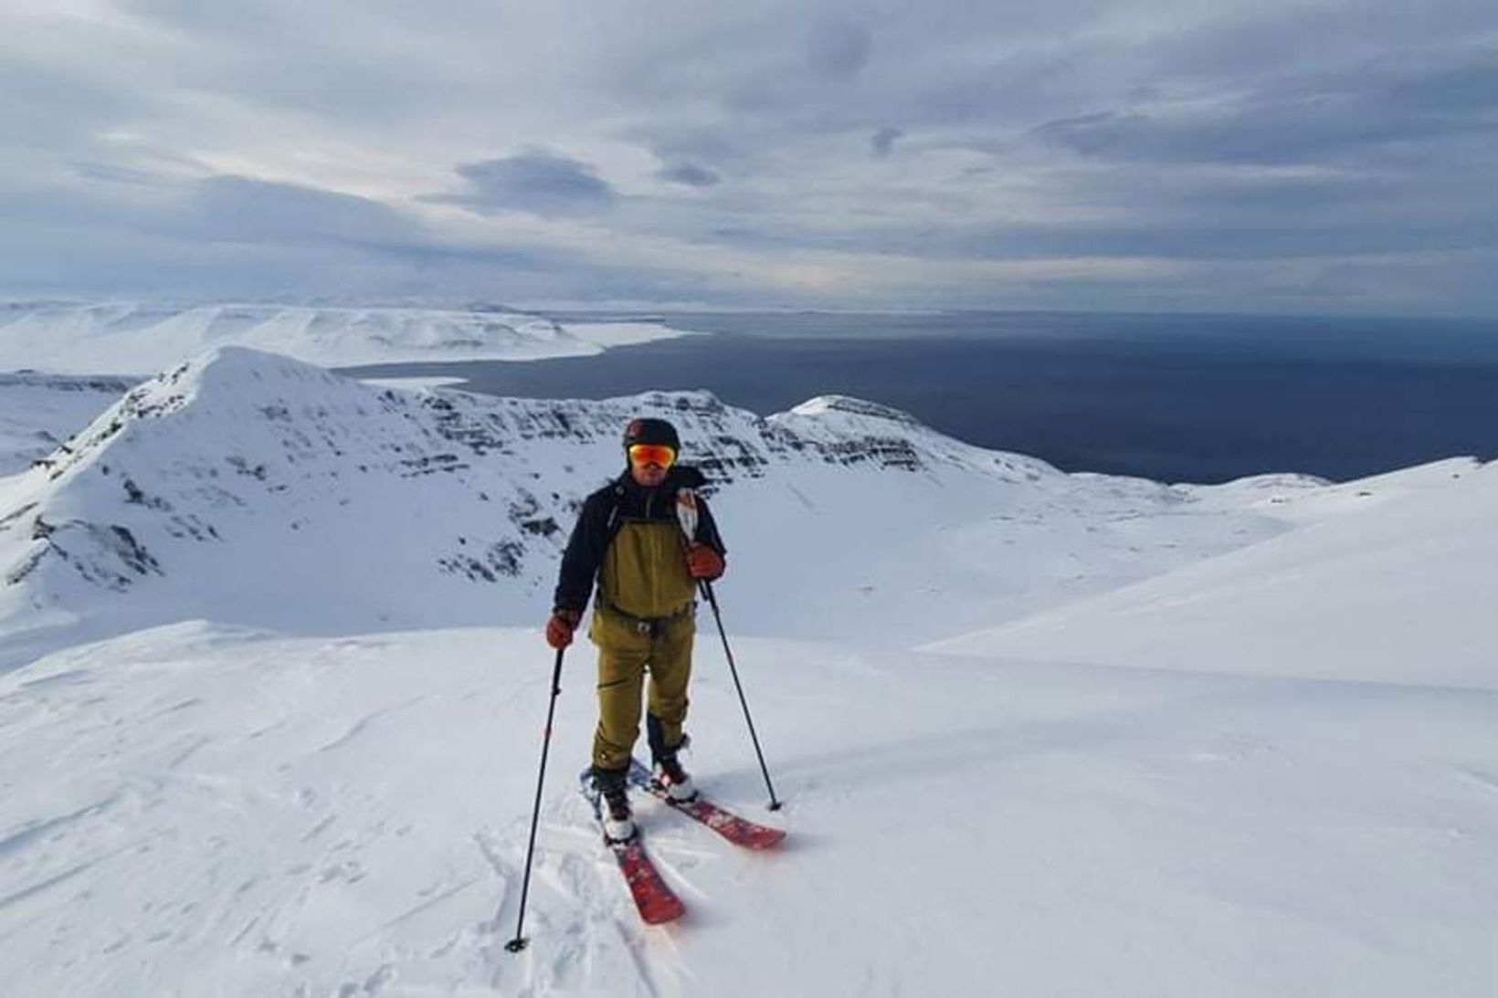
<path id="1" fill-rule="evenodd" d="M 1494 0 L 0 0 L 0 294 L 1498 312 Z"/>

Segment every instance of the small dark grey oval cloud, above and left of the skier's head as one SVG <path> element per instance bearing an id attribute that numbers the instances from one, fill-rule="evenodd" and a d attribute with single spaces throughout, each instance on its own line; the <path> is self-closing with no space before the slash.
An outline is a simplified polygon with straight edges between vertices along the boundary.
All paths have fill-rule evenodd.
<path id="1" fill-rule="evenodd" d="M 614 189 L 592 166 L 551 153 L 463 163 L 457 172 L 467 181 L 467 190 L 422 199 L 455 204 L 478 214 L 530 211 L 541 216 L 589 214 L 617 199 Z"/>

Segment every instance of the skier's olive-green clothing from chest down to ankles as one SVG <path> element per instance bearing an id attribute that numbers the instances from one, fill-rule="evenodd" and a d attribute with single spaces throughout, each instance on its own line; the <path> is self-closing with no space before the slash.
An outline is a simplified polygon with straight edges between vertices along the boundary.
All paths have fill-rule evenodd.
<path id="1" fill-rule="evenodd" d="M 604 553 L 587 631 L 598 646 L 595 769 L 629 766 L 640 737 L 647 671 L 649 709 L 661 722 L 665 746 L 682 743 L 697 635 L 695 596 L 680 527 L 659 520 L 625 521 Z"/>

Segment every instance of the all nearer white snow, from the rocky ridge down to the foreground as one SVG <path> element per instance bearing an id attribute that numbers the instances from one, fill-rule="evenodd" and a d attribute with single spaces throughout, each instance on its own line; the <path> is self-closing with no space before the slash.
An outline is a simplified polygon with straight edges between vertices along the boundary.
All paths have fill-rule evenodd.
<path id="1" fill-rule="evenodd" d="M 688 916 L 640 925 L 575 793 L 583 641 L 509 955 L 539 622 L 634 412 L 719 483 L 786 806 L 706 611 L 689 767 L 789 838 L 641 800 Z M 1494 994 L 1492 466 L 1165 487 L 849 399 L 401 393 L 240 349 L 69 448 L 0 480 L 6 995 Z"/>

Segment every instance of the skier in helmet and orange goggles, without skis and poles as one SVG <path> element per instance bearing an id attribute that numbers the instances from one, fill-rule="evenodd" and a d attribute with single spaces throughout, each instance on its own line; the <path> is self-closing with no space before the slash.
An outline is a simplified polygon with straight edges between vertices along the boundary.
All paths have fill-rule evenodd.
<path id="1" fill-rule="evenodd" d="M 682 769 L 686 688 L 697 634 L 698 580 L 724 574 L 724 541 L 707 503 L 697 499 L 697 536 L 686 538 L 677 520 L 679 490 L 706 478 L 677 465 L 676 427 L 640 418 L 625 427 L 626 468 L 587 498 L 562 554 L 562 571 L 547 620 L 547 643 L 563 649 L 583 619 L 596 584 L 589 637 L 598 646 L 598 728 L 593 733 L 592 782 L 599 794 L 604 836 L 634 838 L 625 791 L 631 752 L 640 737 L 640 700 L 649 667 L 646 733 L 652 775 L 676 802 L 697 790 Z"/>

